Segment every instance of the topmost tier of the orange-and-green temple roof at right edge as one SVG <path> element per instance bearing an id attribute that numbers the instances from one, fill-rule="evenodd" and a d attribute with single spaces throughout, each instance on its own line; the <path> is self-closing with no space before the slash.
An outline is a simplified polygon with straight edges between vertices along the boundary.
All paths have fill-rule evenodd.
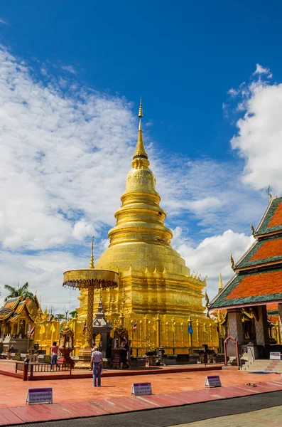
<path id="1" fill-rule="evenodd" d="M 255 237 L 282 232 L 282 197 L 270 199 L 264 216 L 256 227 Z"/>

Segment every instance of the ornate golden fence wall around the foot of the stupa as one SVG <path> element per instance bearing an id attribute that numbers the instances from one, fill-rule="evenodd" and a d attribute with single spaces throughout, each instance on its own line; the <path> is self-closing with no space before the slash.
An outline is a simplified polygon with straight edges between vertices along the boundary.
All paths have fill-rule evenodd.
<path id="1" fill-rule="evenodd" d="M 210 348 L 218 351 L 219 334 L 217 325 L 207 317 L 191 317 L 192 326 L 192 346 L 190 334 L 188 333 L 188 318 L 160 316 L 160 320 L 152 315 L 118 315 L 117 313 L 107 317 L 108 321 L 112 322 L 113 330 L 123 322 L 124 327 L 129 332 L 131 347 L 133 354 L 143 356 L 147 350 L 155 349 L 158 343 L 164 347 L 166 354 L 188 354 L 195 349 L 200 349 L 202 344 L 207 344 Z M 158 322 L 159 337 L 158 337 Z M 59 340 L 60 322 L 52 322 L 55 325 L 56 332 L 50 331 L 50 322 L 45 322 L 45 333 L 40 334 L 40 325 L 36 325 L 34 342 L 40 344 L 40 349 L 45 349 L 47 354 L 50 354 L 50 347 L 53 341 Z M 63 322 L 65 326 L 66 322 Z M 136 329 L 134 325 L 137 324 Z M 42 325 L 42 324 L 41 324 Z M 81 347 L 86 344 L 86 333 L 83 333 L 85 322 L 83 320 L 73 320 L 69 322 L 71 329 L 75 334 L 75 351 L 77 355 Z M 42 328 L 41 328 L 42 330 Z M 221 331 L 223 335 L 223 331 Z"/>

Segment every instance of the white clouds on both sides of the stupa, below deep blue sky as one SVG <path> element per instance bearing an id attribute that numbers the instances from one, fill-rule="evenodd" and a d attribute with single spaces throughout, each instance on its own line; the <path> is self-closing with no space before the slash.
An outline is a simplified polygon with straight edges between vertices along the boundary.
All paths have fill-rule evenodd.
<path id="1" fill-rule="evenodd" d="M 41 68 L 38 78 L 0 50 L 0 285 L 28 280 L 43 305 L 62 310 L 69 299 L 61 285 L 63 271 L 89 262 L 88 256 L 75 255 L 78 245 L 93 233 L 100 251 L 107 243 L 102 230 L 114 224 L 137 123 L 124 98 L 54 78 L 47 61 Z M 188 241 L 176 228 L 173 244 L 192 270 L 208 275 L 211 296 L 219 271 L 229 278 L 230 252 L 236 260 L 251 243 L 237 230 L 258 221 L 266 206 L 267 199 L 254 190 L 270 182 L 278 191 L 282 182 L 277 166 L 281 87 L 261 83 L 261 75 L 244 95 L 242 88 L 233 94 L 244 97 L 246 110 L 232 139 L 246 161 L 243 184 L 238 164 L 160 156 L 145 135 L 168 225 L 179 223 L 186 233 L 194 221 L 199 229 Z M 77 302 L 72 299 L 71 305 Z"/>

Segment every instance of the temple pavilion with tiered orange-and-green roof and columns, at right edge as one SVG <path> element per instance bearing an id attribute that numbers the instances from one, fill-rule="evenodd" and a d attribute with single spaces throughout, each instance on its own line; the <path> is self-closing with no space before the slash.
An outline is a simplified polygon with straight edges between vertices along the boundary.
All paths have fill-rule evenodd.
<path id="1" fill-rule="evenodd" d="M 268 358 L 269 352 L 281 351 L 282 322 L 282 197 L 269 194 L 269 205 L 254 230 L 254 243 L 232 268 L 235 275 L 219 290 L 210 303 L 210 310 L 227 311 L 227 336 L 237 340 L 239 352 L 249 342 L 255 347 L 255 358 Z M 271 313 L 271 309 L 273 312 Z M 246 342 L 242 310 L 252 318 L 253 333 Z M 280 322 L 276 344 L 271 339 L 268 318 Z M 277 331 L 278 331 L 277 330 Z"/>

